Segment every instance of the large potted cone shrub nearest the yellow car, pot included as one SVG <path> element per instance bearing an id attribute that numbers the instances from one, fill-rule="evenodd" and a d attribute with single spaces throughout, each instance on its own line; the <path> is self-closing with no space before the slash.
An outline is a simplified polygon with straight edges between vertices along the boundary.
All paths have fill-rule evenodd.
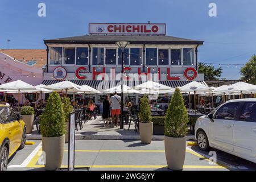
<path id="1" fill-rule="evenodd" d="M 65 114 L 57 92 L 52 92 L 47 100 L 46 108 L 40 117 L 40 129 L 45 152 L 44 166 L 46 170 L 59 169 L 64 154 Z"/>

